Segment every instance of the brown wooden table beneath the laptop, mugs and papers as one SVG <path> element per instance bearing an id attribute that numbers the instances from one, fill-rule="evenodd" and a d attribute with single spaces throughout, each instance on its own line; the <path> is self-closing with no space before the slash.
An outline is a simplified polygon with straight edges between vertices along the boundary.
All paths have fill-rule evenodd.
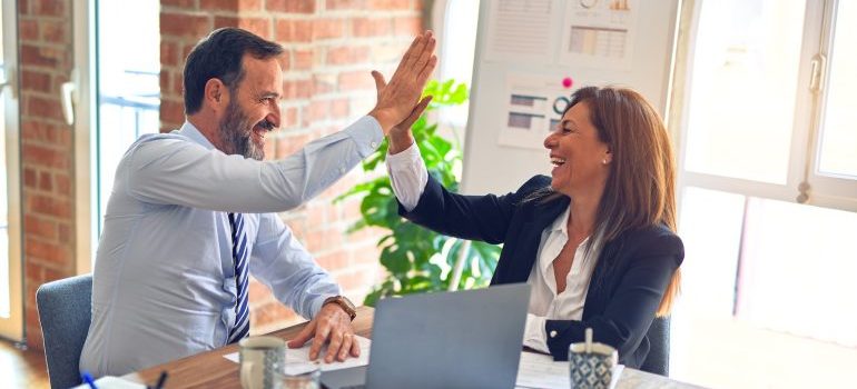
<path id="1" fill-rule="evenodd" d="M 354 319 L 354 331 L 366 338 L 372 338 L 372 318 L 374 309 L 368 307 L 357 308 L 357 318 Z M 269 335 L 283 338 L 294 338 L 306 322 L 274 331 Z M 201 352 L 187 358 L 174 360 L 171 362 L 158 365 L 145 370 L 124 376 L 124 379 L 140 382 L 154 383 L 158 380 L 161 371 L 167 371 L 166 388 L 240 388 L 238 377 L 238 363 L 226 358 L 227 353 L 238 351 L 238 345 L 229 345 L 216 350 Z M 367 350 L 362 350 L 363 352 Z M 651 375 L 644 371 L 624 368 L 622 376 L 615 389 L 656 389 L 674 388 L 689 389 L 699 388 L 684 382 L 671 380 L 667 377 Z"/>

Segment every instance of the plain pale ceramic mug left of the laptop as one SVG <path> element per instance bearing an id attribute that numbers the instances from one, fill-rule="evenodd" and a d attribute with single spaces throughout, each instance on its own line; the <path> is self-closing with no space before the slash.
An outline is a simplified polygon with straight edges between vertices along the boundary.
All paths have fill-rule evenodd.
<path id="1" fill-rule="evenodd" d="M 286 365 L 286 341 L 275 337 L 242 339 L 240 377 L 244 389 L 274 389 L 278 387 L 276 373 Z"/>

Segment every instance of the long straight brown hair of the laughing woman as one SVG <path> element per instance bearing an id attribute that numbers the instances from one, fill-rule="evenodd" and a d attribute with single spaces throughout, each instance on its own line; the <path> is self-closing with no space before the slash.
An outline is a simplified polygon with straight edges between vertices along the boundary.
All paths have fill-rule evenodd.
<path id="1" fill-rule="evenodd" d="M 594 241 L 600 243 L 595 245 L 603 247 L 625 231 L 656 225 L 674 232 L 676 161 L 658 112 L 640 93 L 624 88 L 581 88 L 568 109 L 580 102 L 589 107 L 599 140 L 613 157 L 597 211 Z M 549 188 L 533 194 L 538 201 L 559 196 Z M 669 315 L 680 280 L 681 269 L 676 269 L 657 316 Z"/>

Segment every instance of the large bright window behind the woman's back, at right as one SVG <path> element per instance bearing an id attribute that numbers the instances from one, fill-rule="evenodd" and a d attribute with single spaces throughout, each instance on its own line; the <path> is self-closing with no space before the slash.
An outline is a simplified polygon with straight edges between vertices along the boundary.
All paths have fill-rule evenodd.
<path id="1" fill-rule="evenodd" d="M 671 373 L 713 387 L 841 385 L 830 361 L 857 362 L 857 3 L 684 7 L 670 112 L 686 245 Z"/>

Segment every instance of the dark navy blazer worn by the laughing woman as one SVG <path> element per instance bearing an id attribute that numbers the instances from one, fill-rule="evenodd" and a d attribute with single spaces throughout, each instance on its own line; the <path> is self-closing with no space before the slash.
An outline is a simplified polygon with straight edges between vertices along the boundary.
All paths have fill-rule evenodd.
<path id="1" fill-rule="evenodd" d="M 550 201 L 523 201 L 550 186 L 535 176 L 505 196 L 462 196 L 449 192 L 432 176 L 412 211 L 398 213 L 443 235 L 504 243 L 491 285 L 526 282 L 542 231 L 569 207 L 565 196 Z M 548 348 L 567 360 L 569 345 L 583 341 L 591 327 L 594 339 L 619 350 L 619 362 L 640 368 L 649 353 L 647 331 L 673 272 L 684 258 L 681 239 L 663 226 L 625 231 L 605 242 L 592 272 L 582 320 L 546 320 Z M 555 332 L 554 332 L 555 331 Z"/>

